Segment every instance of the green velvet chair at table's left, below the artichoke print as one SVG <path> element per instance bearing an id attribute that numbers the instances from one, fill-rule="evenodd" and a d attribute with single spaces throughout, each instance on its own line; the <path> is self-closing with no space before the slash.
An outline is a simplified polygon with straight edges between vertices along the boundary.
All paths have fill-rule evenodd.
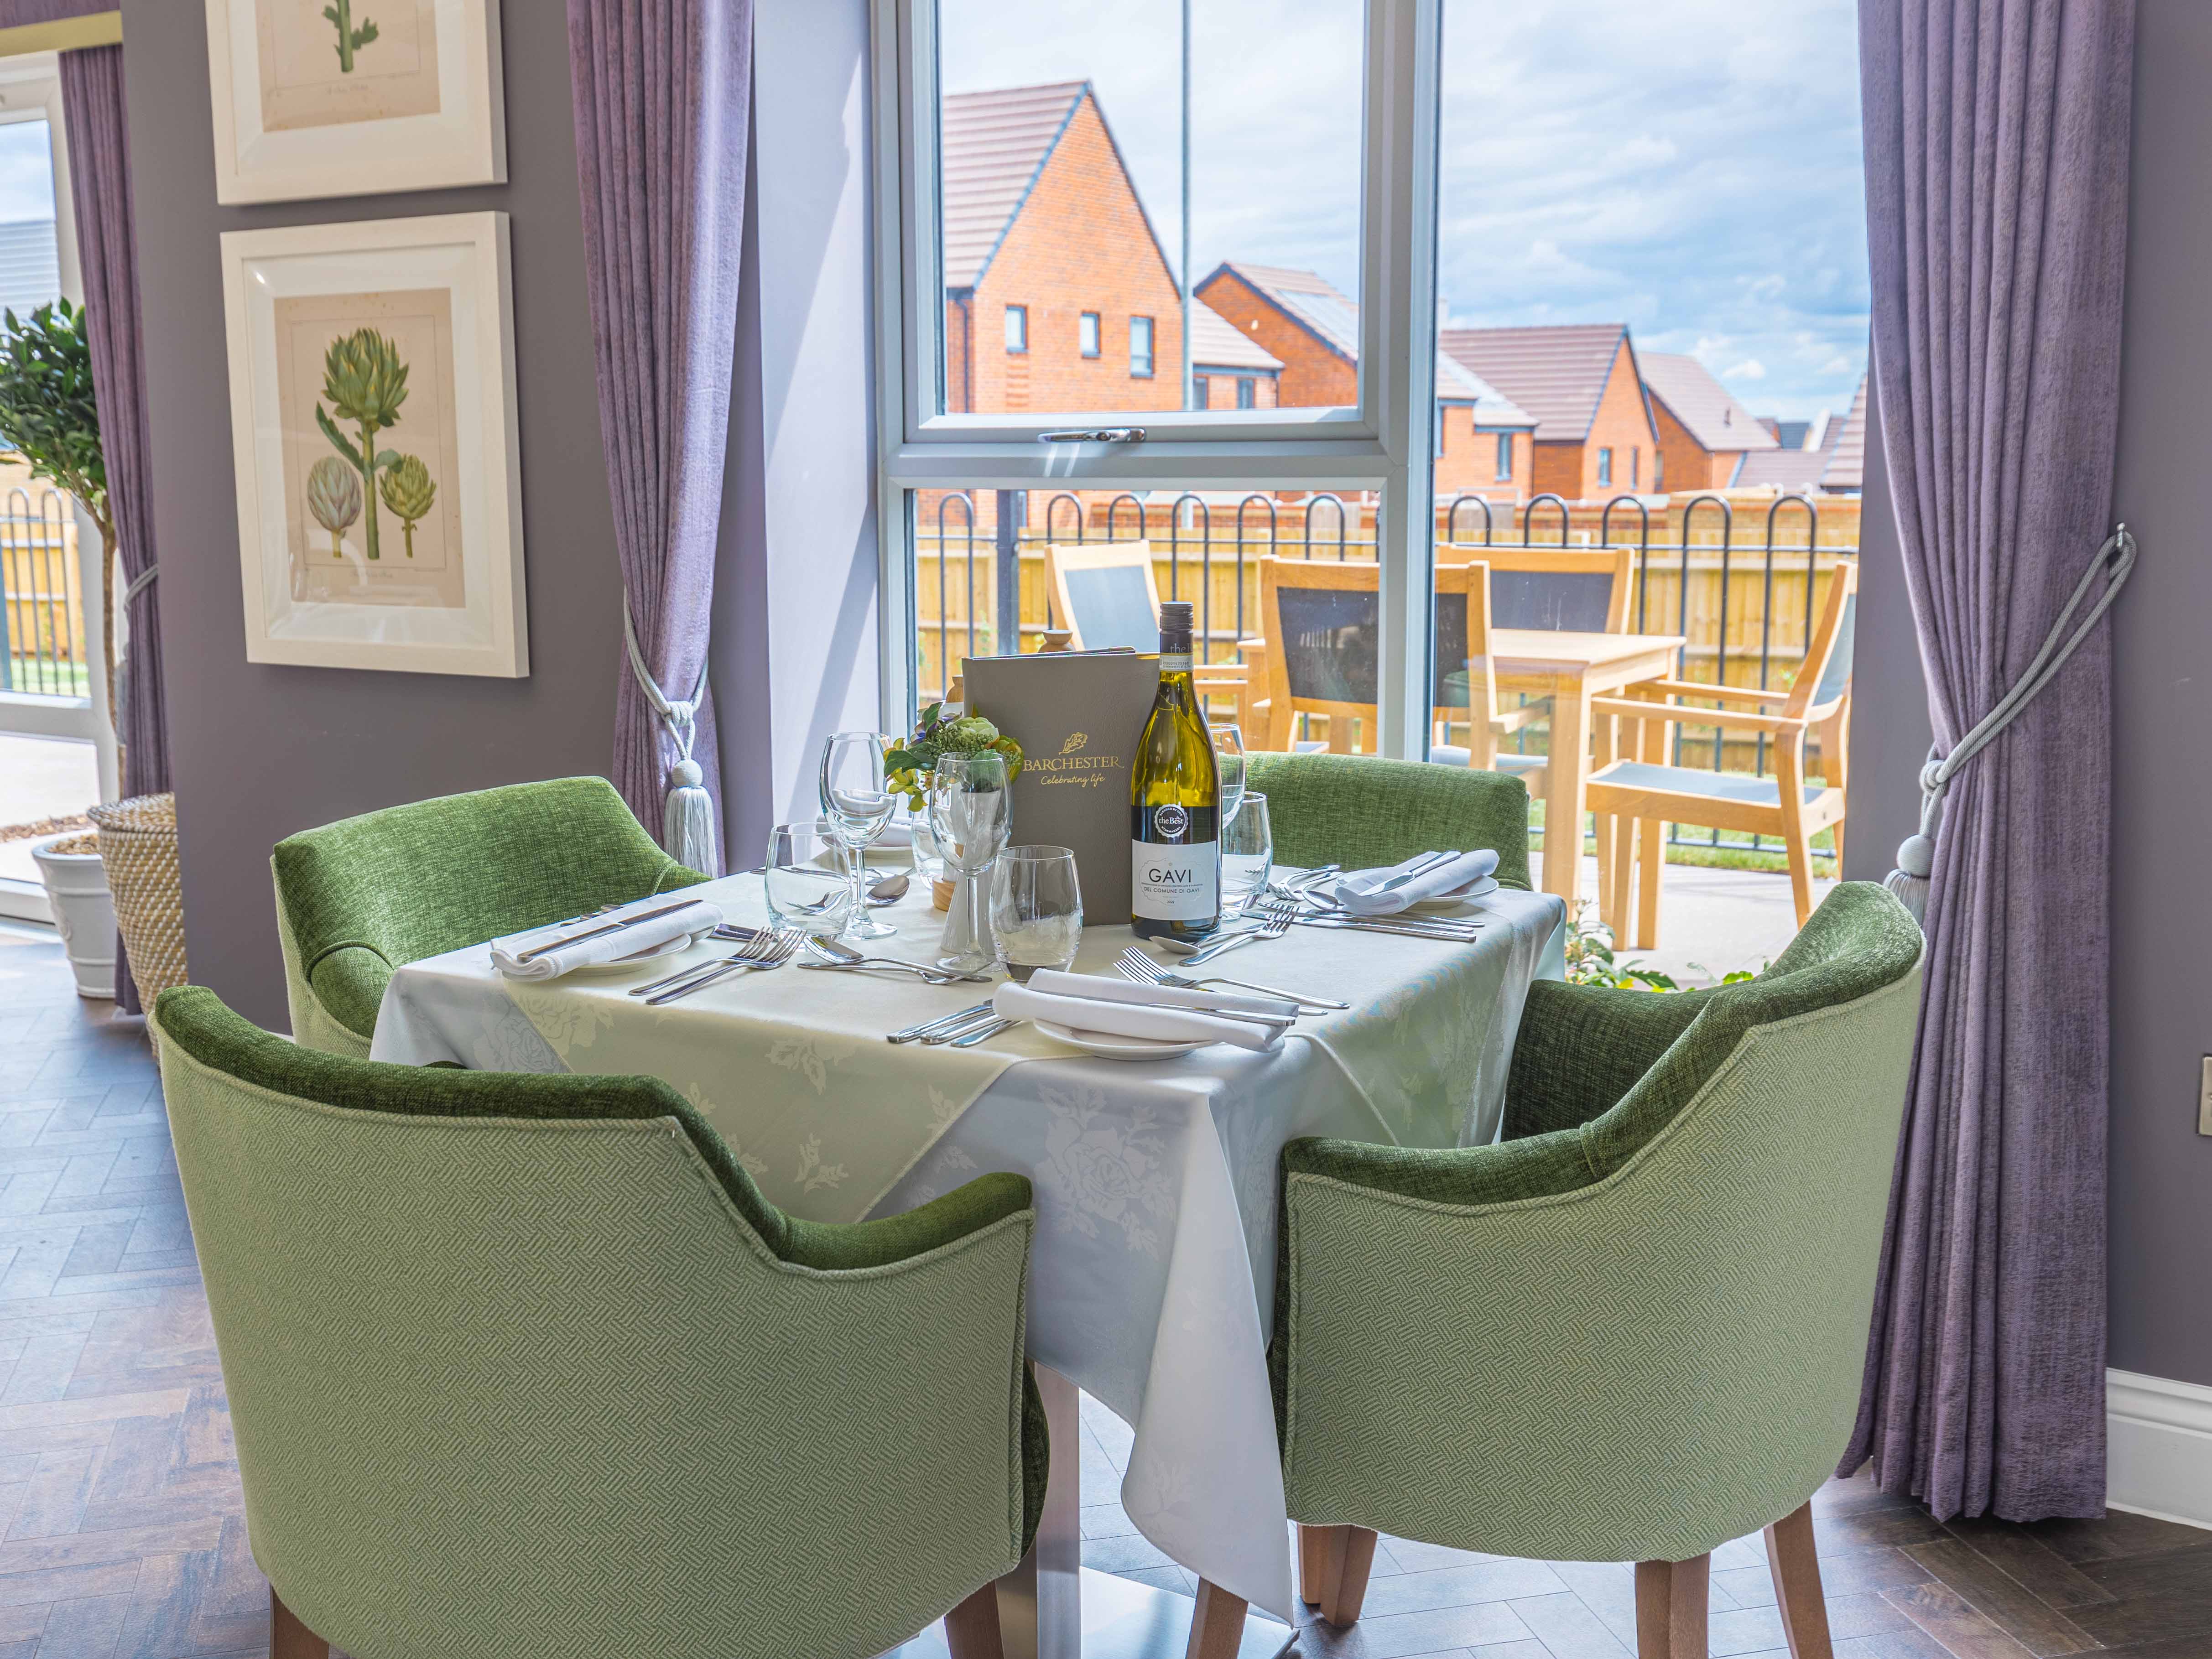
<path id="1" fill-rule="evenodd" d="M 285 836 L 270 869 L 292 1037 L 356 1060 L 394 969 L 706 880 L 653 843 L 606 779 L 365 812 Z"/>

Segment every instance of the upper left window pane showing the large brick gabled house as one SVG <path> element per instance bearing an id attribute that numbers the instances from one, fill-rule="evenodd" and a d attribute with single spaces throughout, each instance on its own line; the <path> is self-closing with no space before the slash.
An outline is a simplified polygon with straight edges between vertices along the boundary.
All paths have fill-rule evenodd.
<path id="1" fill-rule="evenodd" d="M 1181 409 L 1181 0 L 1006 18 L 938 0 L 938 407 Z M 1190 22 L 1188 367 L 1263 383 L 1219 407 L 1356 405 L 1365 4 L 1208 0 Z M 1009 305 L 1020 363 L 975 349 Z"/>

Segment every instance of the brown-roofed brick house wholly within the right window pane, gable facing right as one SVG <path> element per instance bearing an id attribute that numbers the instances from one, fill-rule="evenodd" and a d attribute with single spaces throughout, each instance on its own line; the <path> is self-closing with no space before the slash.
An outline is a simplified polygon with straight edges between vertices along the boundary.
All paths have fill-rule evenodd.
<path id="1" fill-rule="evenodd" d="M 1535 495 L 1610 500 L 1655 491 L 1659 434 L 1626 323 L 1449 327 L 1438 343 L 1535 416 Z"/>

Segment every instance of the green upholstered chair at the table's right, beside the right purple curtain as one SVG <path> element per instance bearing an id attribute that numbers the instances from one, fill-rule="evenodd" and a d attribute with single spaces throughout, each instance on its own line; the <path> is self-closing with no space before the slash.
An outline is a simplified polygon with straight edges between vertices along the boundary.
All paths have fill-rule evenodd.
<path id="1" fill-rule="evenodd" d="M 1703 1659 L 1708 1553 L 1761 1526 L 1825 1659 L 1807 1500 L 1851 1433 L 1920 929 L 1847 883 L 1756 980 L 1528 989 L 1498 1146 L 1283 1150 L 1270 1358 L 1305 1597 L 1374 1528 L 1637 1562 L 1644 1659 Z"/>

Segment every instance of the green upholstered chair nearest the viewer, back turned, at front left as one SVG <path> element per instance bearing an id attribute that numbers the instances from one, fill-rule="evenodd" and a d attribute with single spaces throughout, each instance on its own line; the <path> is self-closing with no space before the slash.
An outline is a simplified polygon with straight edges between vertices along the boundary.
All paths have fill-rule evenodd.
<path id="1" fill-rule="evenodd" d="M 648 1077 L 155 1022 L 279 1659 L 995 1659 L 1026 1179 L 812 1225 Z"/>

